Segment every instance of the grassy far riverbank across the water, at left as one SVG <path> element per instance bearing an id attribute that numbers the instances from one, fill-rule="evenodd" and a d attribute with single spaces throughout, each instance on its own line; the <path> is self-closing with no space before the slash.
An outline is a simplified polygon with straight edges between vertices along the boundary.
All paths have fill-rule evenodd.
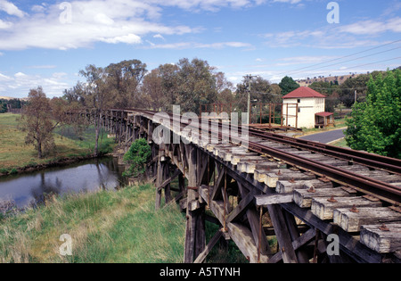
<path id="1" fill-rule="evenodd" d="M 25 145 L 25 133 L 18 128 L 18 114 L 0 114 L 0 177 L 93 159 L 94 128 L 77 136 L 72 128 L 54 133 L 56 148 L 38 159 L 33 145 Z M 115 144 L 103 132 L 101 156 L 111 153 Z"/>

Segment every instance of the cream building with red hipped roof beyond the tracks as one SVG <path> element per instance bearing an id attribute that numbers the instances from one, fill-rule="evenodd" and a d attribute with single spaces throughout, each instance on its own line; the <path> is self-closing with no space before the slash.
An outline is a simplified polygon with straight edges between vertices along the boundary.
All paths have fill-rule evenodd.
<path id="1" fill-rule="evenodd" d="M 333 113 L 324 112 L 325 98 L 325 95 L 310 87 L 299 87 L 288 95 L 284 95 L 282 97 L 283 116 L 287 117 L 288 126 L 315 128 L 333 125 Z"/>

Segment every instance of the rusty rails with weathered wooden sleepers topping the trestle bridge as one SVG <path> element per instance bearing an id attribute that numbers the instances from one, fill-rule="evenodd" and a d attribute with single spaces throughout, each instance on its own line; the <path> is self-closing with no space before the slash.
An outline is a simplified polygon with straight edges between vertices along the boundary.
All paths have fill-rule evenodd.
<path id="1" fill-rule="evenodd" d="M 126 112 L 140 113 L 150 120 L 157 113 L 136 109 Z M 175 117 L 169 116 L 171 120 Z M 322 221 L 331 221 L 351 235 L 360 236 L 357 240 L 376 252 L 401 250 L 400 160 L 254 128 L 247 128 L 249 136 L 244 140 L 239 136 L 241 128 L 238 136 L 226 136 L 224 132 L 231 129 L 230 125 L 200 122 L 209 123 L 207 133 L 209 137 L 218 136 L 217 142 L 202 139 L 201 133 L 196 133 L 199 128 L 192 127 L 191 122 L 180 122 L 181 129 L 194 129 L 190 136 L 182 136 L 181 130 L 175 132 L 220 161 L 231 163 L 231 169 L 267 186 L 273 194 L 269 191 L 255 196 L 258 206 L 280 203 L 299 217 L 305 217 L 303 210 L 308 210 Z M 170 125 L 174 131 L 176 128 Z M 227 138 L 246 145 L 222 143 Z M 384 239 L 385 245 L 377 239 Z M 395 241 L 396 250 L 386 246 L 390 240 Z"/>

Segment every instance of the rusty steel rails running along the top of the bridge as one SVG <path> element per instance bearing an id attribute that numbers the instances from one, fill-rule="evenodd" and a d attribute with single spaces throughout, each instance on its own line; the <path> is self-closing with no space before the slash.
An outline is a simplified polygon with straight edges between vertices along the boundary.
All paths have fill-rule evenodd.
<path id="1" fill-rule="evenodd" d="M 150 118 L 157 113 L 136 109 L 128 111 L 143 112 L 149 114 Z M 171 120 L 173 120 L 174 114 L 170 113 L 169 115 Z M 206 120 L 202 120 L 202 122 L 205 121 Z M 208 122 L 210 135 L 214 133 L 212 128 L 216 128 L 216 126 L 218 126 L 218 136 L 220 137 L 218 140 L 219 142 L 221 142 L 224 137 L 222 129 L 231 129 L 230 125 L 222 122 L 218 122 L 218 124 L 216 124 L 216 121 L 213 120 L 208 120 Z M 182 127 L 189 125 L 191 125 L 189 122 L 181 124 Z M 313 172 L 323 178 L 331 179 L 332 181 L 339 183 L 341 186 L 352 187 L 358 192 L 375 196 L 380 200 L 395 206 L 401 206 L 401 160 L 332 145 L 323 145 L 293 137 L 273 134 L 270 132 L 263 132 L 254 128 L 248 128 L 248 132 L 250 135 L 248 148 L 251 152 L 270 155 L 275 159 L 287 162 L 293 167 Z M 239 133 L 241 133 L 241 127 L 239 127 Z M 243 142 L 241 137 L 225 136 L 225 139 L 227 139 L 227 137 L 230 137 L 236 143 Z M 271 143 L 267 144 L 266 142 Z M 279 144 L 282 146 L 274 147 L 274 144 Z M 294 148 L 299 151 L 291 151 L 289 148 Z M 299 154 L 299 152 L 305 150 L 311 152 L 312 154 Z M 322 157 L 328 156 L 340 161 L 347 161 L 348 163 L 342 162 L 346 165 L 333 166 L 332 164 L 325 164 L 322 161 L 317 161 L 315 157 L 310 157 L 319 155 Z M 394 177 L 391 178 L 391 182 L 389 183 L 380 179 L 384 174 L 372 178 L 366 176 L 366 170 L 361 174 L 352 171 L 352 169 L 347 169 L 352 168 L 352 166 L 356 164 L 368 167 L 369 171 L 387 171 L 389 172 L 388 176 L 393 175 Z M 372 174 L 374 173 L 372 172 Z"/>

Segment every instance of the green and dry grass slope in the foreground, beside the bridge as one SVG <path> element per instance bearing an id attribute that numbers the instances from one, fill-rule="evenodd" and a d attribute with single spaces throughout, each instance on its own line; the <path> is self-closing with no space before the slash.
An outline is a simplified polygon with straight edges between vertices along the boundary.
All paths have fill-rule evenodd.
<path id="1" fill-rule="evenodd" d="M 0 223 L 0 262 L 182 262 L 184 215 L 175 203 L 154 211 L 151 185 L 70 194 Z M 63 234 L 72 237 L 61 257 Z"/>

